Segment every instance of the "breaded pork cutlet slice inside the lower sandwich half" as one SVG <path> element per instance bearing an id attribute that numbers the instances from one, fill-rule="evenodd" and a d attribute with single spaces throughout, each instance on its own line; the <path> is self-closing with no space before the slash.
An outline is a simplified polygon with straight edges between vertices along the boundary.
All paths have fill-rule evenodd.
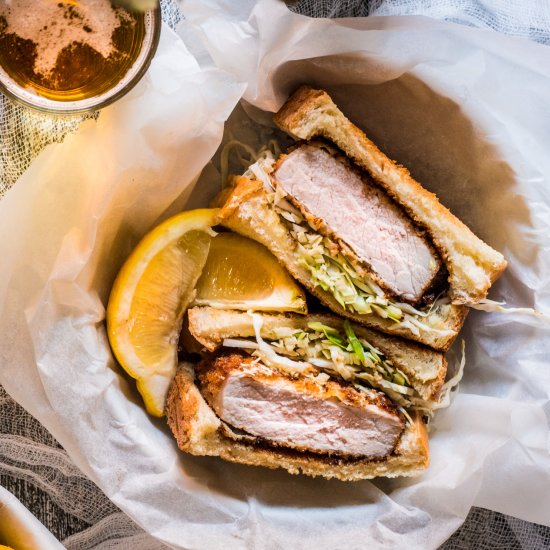
<path id="1" fill-rule="evenodd" d="M 401 415 L 383 394 L 336 381 L 291 379 L 232 353 L 197 369 L 201 393 L 224 422 L 276 446 L 382 458 L 397 445 Z"/>

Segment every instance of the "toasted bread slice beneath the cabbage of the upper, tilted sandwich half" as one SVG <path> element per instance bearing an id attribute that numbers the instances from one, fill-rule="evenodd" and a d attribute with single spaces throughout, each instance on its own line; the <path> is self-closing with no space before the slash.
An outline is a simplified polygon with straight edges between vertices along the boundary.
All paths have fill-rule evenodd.
<path id="1" fill-rule="evenodd" d="M 266 246 L 295 279 L 334 313 L 364 326 L 420 342 L 436 350 L 447 351 L 450 348 L 468 313 L 466 306 L 445 305 L 423 319 L 427 325 L 445 333 L 420 330 L 419 334 L 390 319 L 357 314 L 344 309 L 330 292 L 315 286 L 309 271 L 299 264 L 294 254 L 295 242 L 279 215 L 271 208 L 263 184 L 244 176 L 233 178 L 231 183 L 231 187 L 224 191 L 225 202 L 221 205 L 219 223 Z"/>

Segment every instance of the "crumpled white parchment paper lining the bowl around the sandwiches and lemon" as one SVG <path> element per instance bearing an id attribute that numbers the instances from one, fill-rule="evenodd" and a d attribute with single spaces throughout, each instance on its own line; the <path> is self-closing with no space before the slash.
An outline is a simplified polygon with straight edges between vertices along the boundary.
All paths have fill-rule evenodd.
<path id="1" fill-rule="evenodd" d="M 201 68 L 165 33 L 148 79 L 50 147 L 0 203 L 2 384 L 176 548 L 435 548 L 472 505 L 550 525 L 550 332 L 538 321 L 472 312 L 466 376 L 433 423 L 429 470 L 353 484 L 182 455 L 143 411 L 103 327 L 124 256 L 185 204 L 238 82 L 248 104 L 227 134 L 263 138 L 269 117 L 257 108 L 275 110 L 302 82 L 327 88 L 505 254 L 491 297 L 550 311 L 548 50 L 422 18 L 309 20 L 275 0 L 184 12 Z M 193 206 L 211 194 L 215 166 Z"/>

